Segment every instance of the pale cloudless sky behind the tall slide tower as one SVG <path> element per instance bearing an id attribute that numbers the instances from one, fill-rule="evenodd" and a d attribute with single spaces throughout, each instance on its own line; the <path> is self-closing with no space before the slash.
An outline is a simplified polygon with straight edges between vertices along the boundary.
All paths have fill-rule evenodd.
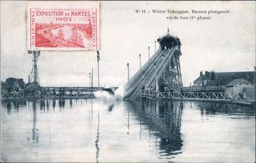
<path id="1" fill-rule="evenodd" d="M 135 10 L 230 10 L 210 21 L 168 20 L 167 15 L 135 14 Z M 179 15 L 178 15 L 179 16 Z M 255 66 L 255 1 L 102 1 L 101 86 L 119 86 L 153 55 L 154 41 L 178 35 L 183 85 L 189 86 L 200 70 L 247 71 Z M 88 86 L 96 52 L 41 52 L 38 61 L 42 86 Z M 28 81 L 32 57 L 26 49 L 26 1 L 1 1 L 1 81 L 8 77 Z"/>

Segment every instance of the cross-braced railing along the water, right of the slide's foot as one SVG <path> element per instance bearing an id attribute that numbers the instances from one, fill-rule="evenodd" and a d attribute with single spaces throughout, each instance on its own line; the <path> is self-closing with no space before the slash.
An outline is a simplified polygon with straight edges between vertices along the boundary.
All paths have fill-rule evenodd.
<path id="1" fill-rule="evenodd" d="M 244 95 L 227 93 L 202 93 L 202 92 L 156 92 L 142 90 L 142 97 L 158 99 L 209 99 L 209 100 L 232 100 L 244 99 Z"/>

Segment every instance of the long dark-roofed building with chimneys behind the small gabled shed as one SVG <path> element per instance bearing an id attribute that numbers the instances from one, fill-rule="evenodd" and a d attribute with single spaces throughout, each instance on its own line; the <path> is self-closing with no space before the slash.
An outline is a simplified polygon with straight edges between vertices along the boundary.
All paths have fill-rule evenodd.
<path id="1" fill-rule="evenodd" d="M 255 71 L 215 73 L 214 71 L 200 72 L 200 76 L 194 81 L 194 86 L 227 86 L 234 79 L 246 79 L 255 85 Z"/>

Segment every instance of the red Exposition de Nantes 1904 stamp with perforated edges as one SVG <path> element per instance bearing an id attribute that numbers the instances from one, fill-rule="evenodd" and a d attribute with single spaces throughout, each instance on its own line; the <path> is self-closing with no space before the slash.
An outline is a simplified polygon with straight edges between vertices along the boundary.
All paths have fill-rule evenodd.
<path id="1" fill-rule="evenodd" d="M 99 1 L 33 1 L 28 50 L 99 50 Z"/>

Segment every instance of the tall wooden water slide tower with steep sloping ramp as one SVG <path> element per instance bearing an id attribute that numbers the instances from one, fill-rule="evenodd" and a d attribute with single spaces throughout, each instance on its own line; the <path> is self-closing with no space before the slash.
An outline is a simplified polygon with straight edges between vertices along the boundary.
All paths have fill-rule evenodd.
<path id="1" fill-rule="evenodd" d="M 136 99 L 142 90 L 182 90 L 180 39 L 168 32 L 157 42 L 159 49 L 124 86 L 124 99 Z"/>

